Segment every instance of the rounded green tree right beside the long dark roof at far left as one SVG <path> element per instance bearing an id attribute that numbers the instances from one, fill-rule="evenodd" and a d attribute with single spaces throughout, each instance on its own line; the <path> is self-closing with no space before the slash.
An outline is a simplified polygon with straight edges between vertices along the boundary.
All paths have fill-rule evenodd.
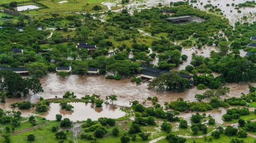
<path id="1" fill-rule="evenodd" d="M 29 62 L 26 64 L 29 74 L 33 77 L 42 77 L 47 74 L 48 67 L 44 63 Z"/>

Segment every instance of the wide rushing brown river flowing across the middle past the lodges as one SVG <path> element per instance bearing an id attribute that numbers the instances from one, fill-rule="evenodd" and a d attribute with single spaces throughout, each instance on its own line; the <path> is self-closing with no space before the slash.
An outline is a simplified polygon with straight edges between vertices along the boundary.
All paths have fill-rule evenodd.
<path id="1" fill-rule="evenodd" d="M 46 76 L 40 79 L 42 87 L 44 89 L 43 93 L 37 93 L 35 95 L 28 95 L 27 97 L 7 99 L 8 103 L 0 104 L 6 107 L 8 104 L 14 102 L 21 102 L 22 100 L 29 100 L 32 103 L 36 103 L 40 96 L 45 99 L 62 97 L 66 91 L 74 92 L 77 98 L 81 98 L 85 95 L 98 94 L 102 99 L 110 94 L 115 94 L 118 97 L 114 104 L 118 106 L 130 106 L 130 101 L 138 100 L 142 103 L 147 99 L 148 96 L 157 96 L 159 103 L 163 105 L 164 101 L 174 101 L 179 97 L 183 97 L 188 101 L 195 101 L 194 95 L 201 94 L 205 90 L 198 90 L 195 86 L 191 89 L 187 89 L 184 92 L 169 92 L 161 91 L 157 92 L 148 88 L 148 83 L 136 84 L 130 82 L 131 79 L 124 78 L 119 81 L 105 79 L 105 76 L 81 76 L 81 75 L 69 75 L 68 77 L 62 78 L 56 73 L 48 73 Z M 230 92 L 223 95 L 221 98 L 229 97 L 240 97 L 241 92 L 247 94 L 249 89 L 246 83 L 231 83 L 226 84 L 230 87 Z M 14 100 L 14 101 L 12 101 Z M 209 99 L 205 99 L 208 101 Z M 146 100 L 145 106 L 151 106 L 152 103 Z"/>

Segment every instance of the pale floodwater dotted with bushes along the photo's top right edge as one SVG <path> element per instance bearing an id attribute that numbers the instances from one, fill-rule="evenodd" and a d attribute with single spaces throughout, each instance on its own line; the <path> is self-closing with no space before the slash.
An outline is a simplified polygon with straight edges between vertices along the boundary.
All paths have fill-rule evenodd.
<path id="1" fill-rule="evenodd" d="M 147 1 L 142 1 L 141 3 L 138 1 L 135 1 L 133 3 L 130 3 L 126 5 L 126 8 L 129 11 L 130 14 L 133 14 L 133 10 L 137 9 L 138 11 L 142 9 L 148 9 L 157 6 L 159 3 L 162 3 L 162 5 L 169 5 L 170 2 L 178 2 L 181 0 L 147 0 Z M 213 6 L 217 6 L 222 10 L 223 16 L 229 19 L 230 24 L 234 25 L 236 21 L 241 21 L 241 22 L 253 22 L 256 20 L 254 17 L 254 14 L 256 12 L 255 8 L 252 7 L 242 7 L 239 8 L 241 13 L 238 13 L 238 10 L 235 10 L 235 6 L 231 6 L 232 3 L 235 5 L 238 5 L 239 3 L 244 3 L 245 0 L 235 0 L 235 1 L 225 1 L 225 0 L 211 0 L 210 2 L 207 2 L 208 0 L 198 0 L 197 3 L 191 3 L 193 6 L 196 6 L 197 8 L 201 10 L 208 11 L 208 9 L 205 9 L 203 6 L 206 4 L 212 4 Z M 252 1 L 252 0 L 248 0 Z M 200 3 L 203 3 L 200 5 Z M 226 4 L 229 4 L 230 6 L 226 6 Z M 141 7 L 143 6 L 143 7 Z M 114 10 L 116 11 L 121 11 L 122 9 L 119 10 Z M 231 12 L 232 11 L 232 12 Z M 243 16 L 246 16 L 248 19 L 243 20 Z"/>

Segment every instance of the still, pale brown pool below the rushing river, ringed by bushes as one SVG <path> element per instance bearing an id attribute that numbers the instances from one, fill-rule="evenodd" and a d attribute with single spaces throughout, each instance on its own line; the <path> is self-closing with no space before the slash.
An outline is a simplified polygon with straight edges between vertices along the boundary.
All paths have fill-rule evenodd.
<path id="1" fill-rule="evenodd" d="M 61 114 L 63 118 L 69 118 L 71 121 L 76 122 L 87 120 L 88 118 L 98 120 L 100 117 L 117 119 L 125 115 L 125 112 L 122 112 L 118 107 L 112 104 L 102 104 L 102 108 L 94 107 L 92 103 L 71 102 L 68 104 L 74 106 L 73 110 L 66 111 L 60 108 L 59 103 L 51 103 L 48 112 L 39 116 L 45 117 L 47 120 L 55 120 L 55 115 Z"/>

